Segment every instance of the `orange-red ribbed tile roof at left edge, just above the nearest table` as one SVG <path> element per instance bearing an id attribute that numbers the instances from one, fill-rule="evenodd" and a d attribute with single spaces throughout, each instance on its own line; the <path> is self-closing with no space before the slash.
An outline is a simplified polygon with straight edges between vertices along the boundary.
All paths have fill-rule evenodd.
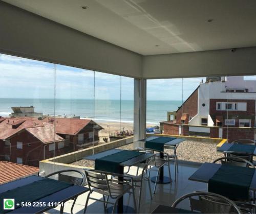
<path id="1" fill-rule="evenodd" d="M 18 163 L 0 161 L 0 184 L 35 175 L 39 168 Z"/>

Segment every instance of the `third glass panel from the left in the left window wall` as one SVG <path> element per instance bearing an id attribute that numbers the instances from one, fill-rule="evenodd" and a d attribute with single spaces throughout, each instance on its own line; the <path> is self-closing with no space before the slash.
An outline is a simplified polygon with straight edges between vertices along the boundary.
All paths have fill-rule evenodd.
<path id="1" fill-rule="evenodd" d="M 100 144 L 121 137 L 121 77 L 95 72 L 95 122 L 104 129 L 99 132 Z M 119 142 L 118 142 L 119 144 Z"/>

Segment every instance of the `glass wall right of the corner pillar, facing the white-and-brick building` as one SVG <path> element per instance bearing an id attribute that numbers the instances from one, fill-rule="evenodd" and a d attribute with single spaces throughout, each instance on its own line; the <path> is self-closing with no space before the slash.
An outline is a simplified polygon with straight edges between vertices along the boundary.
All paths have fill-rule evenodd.
<path id="1" fill-rule="evenodd" d="M 190 136 L 180 158 L 211 162 L 219 139 L 254 144 L 255 103 L 255 76 L 147 80 L 147 134 Z"/>

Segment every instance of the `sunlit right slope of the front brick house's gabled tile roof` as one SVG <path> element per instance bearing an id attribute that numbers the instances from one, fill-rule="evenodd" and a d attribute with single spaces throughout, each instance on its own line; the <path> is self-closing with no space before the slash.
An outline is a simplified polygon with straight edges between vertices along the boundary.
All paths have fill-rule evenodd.
<path id="1" fill-rule="evenodd" d="M 33 134 L 37 139 L 39 139 L 41 142 L 44 142 L 44 144 L 47 144 L 49 142 L 53 141 L 63 141 L 64 139 L 54 133 L 54 127 L 52 124 L 42 122 L 41 127 L 34 127 L 34 128 L 27 128 L 26 130 Z"/>

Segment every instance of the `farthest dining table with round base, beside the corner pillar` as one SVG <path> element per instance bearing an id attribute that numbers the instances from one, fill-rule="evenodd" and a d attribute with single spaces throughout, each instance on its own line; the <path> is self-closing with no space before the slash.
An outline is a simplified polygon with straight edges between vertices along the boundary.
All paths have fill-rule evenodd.
<path id="1" fill-rule="evenodd" d="M 135 141 L 135 143 L 137 143 L 139 145 L 139 147 L 142 147 L 142 148 L 145 148 L 145 149 L 150 149 L 150 150 L 154 151 L 154 149 L 152 149 L 152 148 L 146 148 L 146 142 L 157 139 L 157 138 L 161 138 L 161 137 L 159 137 L 159 136 L 150 136 L 150 137 L 147 137 L 147 138 L 144 138 L 144 139 L 141 139 L 141 140 L 137 140 L 137 141 Z M 164 138 L 167 138 L 167 137 L 164 137 Z M 185 139 L 183 139 L 183 138 L 169 137 L 169 140 L 166 140 L 166 142 L 164 143 L 163 148 L 174 150 L 174 153 L 176 155 L 176 150 L 177 150 L 179 144 L 183 141 L 185 141 Z M 161 159 L 164 158 L 164 153 L 161 152 L 161 151 L 159 152 L 159 158 L 161 158 Z M 153 176 L 151 178 L 151 181 L 156 182 L 156 178 L 157 178 L 157 176 Z M 164 167 L 161 167 L 157 183 L 165 184 L 165 183 L 170 183 L 171 181 L 172 180 L 169 177 L 164 176 Z"/>

